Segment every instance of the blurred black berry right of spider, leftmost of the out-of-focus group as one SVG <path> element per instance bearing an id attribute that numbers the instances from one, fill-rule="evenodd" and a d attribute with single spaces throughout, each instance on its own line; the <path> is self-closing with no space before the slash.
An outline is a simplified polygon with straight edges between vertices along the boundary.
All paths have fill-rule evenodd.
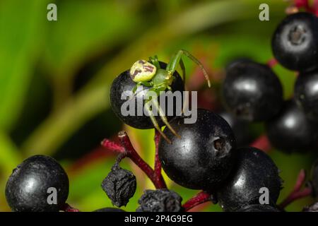
<path id="1" fill-rule="evenodd" d="M 228 67 L 222 90 L 230 112 L 249 121 L 271 119 L 283 102 L 283 88 L 276 74 L 269 66 L 253 61 L 238 61 Z"/>

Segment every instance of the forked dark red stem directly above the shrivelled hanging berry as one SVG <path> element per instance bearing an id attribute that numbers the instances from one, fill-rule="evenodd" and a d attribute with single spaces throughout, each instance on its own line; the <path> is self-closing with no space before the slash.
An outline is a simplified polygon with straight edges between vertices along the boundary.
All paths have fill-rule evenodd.
<path id="1" fill-rule="evenodd" d="M 161 175 L 161 165 L 160 173 L 156 174 L 155 171 L 136 152 L 125 131 L 119 132 L 118 137 L 119 141 L 122 143 L 122 146 L 107 139 L 102 141 L 102 146 L 110 150 L 117 151 L 117 153 L 124 154 L 122 155 L 122 157 L 129 157 L 143 172 L 145 172 L 149 179 L 151 179 L 151 182 L 153 182 L 156 189 L 167 188 L 167 186 L 165 185 L 165 181 L 163 180 L 163 177 Z M 160 163 L 157 163 L 157 167 L 159 164 Z"/>

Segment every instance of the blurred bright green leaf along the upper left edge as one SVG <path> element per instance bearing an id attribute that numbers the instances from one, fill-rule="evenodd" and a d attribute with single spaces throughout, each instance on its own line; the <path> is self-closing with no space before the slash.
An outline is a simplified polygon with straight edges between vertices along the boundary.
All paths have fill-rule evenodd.
<path id="1" fill-rule="evenodd" d="M 11 129 L 42 46 L 47 1 L 0 3 L 0 129 Z"/>

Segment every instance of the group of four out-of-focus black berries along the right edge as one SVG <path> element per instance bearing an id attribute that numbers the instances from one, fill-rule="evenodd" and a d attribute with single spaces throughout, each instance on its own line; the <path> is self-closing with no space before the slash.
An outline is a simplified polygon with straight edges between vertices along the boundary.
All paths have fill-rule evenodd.
<path id="1" fill-rule="evenodd" d="M 273 34 L 277 61 L 298 71 L 295 93 L 283 100 L 276 74 L 248 59 L 228 66 L 223 83 L 225 105 L 238 118 L 264 121 L 271 144 L 285 152 L 318 148 L 318 19 L 312 13 L 287 16 Z"/>

